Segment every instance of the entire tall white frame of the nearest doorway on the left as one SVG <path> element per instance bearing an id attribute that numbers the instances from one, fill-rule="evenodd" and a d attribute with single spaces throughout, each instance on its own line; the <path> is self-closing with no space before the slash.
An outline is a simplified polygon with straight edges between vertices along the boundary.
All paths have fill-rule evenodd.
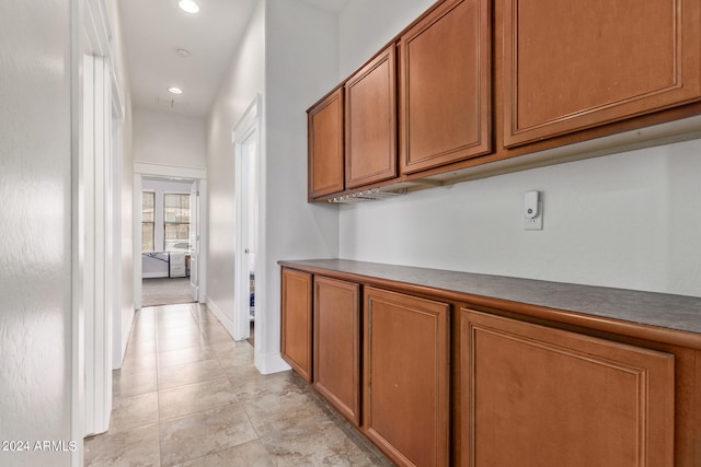
<path id="1" fill-rule="evenodd" d="M 72 389 L 71 465 L 83 463 L 82 437 L 104 432 L 112 412 L 113 320 L 122 313 L 120 138 L 125 106 L 101 0 L 71 2 Z M 113 126 L 114 125 L 114 126 Z M 114 132 L 113 132 L 114 131 Z M 119 141 L 116 141 L 119 143 Z M 118 148 L 119 150 L 116 150 Z M 115 266 L 117 265 L 117 266 Z"/>

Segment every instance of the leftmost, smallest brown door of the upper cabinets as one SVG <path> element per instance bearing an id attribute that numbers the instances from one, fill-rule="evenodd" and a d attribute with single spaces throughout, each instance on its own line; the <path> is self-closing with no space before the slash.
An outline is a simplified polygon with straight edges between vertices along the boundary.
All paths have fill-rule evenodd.
<path id="1" fill-rule="evenodd" d="M 309 109 L 310 199 L 343 191 L 343 89 Z"/>

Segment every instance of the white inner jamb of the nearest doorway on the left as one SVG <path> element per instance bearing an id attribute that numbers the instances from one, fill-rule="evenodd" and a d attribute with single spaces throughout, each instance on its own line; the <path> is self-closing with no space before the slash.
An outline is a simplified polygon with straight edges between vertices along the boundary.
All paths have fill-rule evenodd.
<path id="1" fill-rule="evenodd" d="M 83 70 L 84 434 L 97 434 L 112 412 L 112 79 L 103 57 L 85 55 Z"/>

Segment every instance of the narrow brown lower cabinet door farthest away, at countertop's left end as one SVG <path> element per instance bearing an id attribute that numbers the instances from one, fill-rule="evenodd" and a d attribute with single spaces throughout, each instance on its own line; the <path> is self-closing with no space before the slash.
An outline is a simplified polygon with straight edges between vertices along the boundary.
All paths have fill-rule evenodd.
<path id="1" fill-rule="evenodd" d="M 283 269 L 283 358 L 307 382 L 311 382 L 311 275 Z"/>

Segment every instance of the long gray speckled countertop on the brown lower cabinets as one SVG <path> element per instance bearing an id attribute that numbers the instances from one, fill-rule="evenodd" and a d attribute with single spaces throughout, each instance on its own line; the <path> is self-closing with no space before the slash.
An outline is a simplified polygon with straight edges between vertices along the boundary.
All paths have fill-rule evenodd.
<path id="1" fill-rule="evenodd" d="M 475 275 L 346 259 L 283 260 L 283 266 L 323 269 L 444 291 L 507 300 L 604 318 L 701 334 L 701 297 Z"/>

